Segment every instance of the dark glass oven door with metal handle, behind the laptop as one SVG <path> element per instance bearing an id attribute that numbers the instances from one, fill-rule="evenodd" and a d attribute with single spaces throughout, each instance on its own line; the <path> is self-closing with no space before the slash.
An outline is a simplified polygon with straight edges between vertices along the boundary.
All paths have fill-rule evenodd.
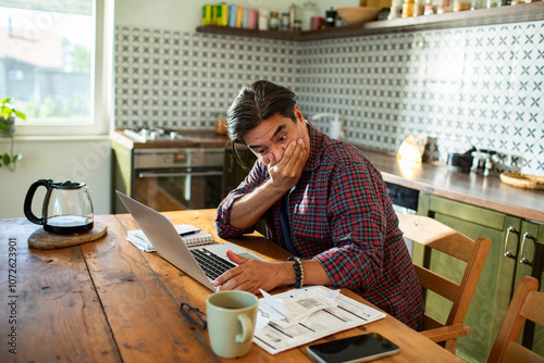
<path id="1" fill-rule="evenodd" d="M 223 168 L 136 171 L 135 199 L 159 212 L 218 208 Z"/>

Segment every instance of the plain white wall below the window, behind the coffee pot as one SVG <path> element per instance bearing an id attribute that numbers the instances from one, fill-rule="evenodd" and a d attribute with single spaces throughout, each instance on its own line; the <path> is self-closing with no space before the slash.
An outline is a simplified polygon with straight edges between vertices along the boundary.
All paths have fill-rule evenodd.
<path id="1" fill-rule="evenodd" d="M 23 204 L 28 187 L 37 179 L 84 182 L 92 190 L 95 214 L 110 213 L 110 141 L 107 137 L 86 140 L 15 141 L 23 153 L 14 172 L 0 170 L 0 217 L 24 217 Z M 0 150 L 8 150 L 5 139 Z M 40 216 L 45 188 L 36 193 L 33 211 Z M 39 190 L 39 189 L 38 189 Z"/>

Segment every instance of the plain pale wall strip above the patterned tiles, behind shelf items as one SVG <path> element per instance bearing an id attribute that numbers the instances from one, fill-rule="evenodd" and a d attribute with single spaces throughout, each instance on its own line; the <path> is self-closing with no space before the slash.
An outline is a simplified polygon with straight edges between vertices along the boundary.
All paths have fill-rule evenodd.
<path id="1" fill-rule="evenodd" d="M 166 28 L 194 32 L 200 25 L 202 5 L 214 4 L 221 1 L 210 0 L 116 0 L 115 25 Z M 270 11 L 288 12 L 292 3 L 302 7 L 307 0 L 239 0 L 227 3 L 262 8 Z M 320 12 L 331 7 L 357 7 L 359 0 L 313 0 Z"/>

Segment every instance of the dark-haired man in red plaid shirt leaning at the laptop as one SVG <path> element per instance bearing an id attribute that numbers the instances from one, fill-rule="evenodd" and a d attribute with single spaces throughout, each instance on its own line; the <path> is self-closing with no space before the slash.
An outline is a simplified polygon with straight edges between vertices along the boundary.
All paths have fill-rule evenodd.
<path id="1" fill-rule="evenodd" d="M 219 205 L 219 236 L 251 233 L 264 218 L 268 237 L 295 261 L 227 252 L 238 266 L 214 286 L 251 292 L 284 285 L 346 287 L 420 328 L 421 288 L 382 177 L 362 152 L 309 124 L 295 93 L 265 80 L 242 89 L 227 128 L 233 146 L 246 145 L 258 160 Z"/>

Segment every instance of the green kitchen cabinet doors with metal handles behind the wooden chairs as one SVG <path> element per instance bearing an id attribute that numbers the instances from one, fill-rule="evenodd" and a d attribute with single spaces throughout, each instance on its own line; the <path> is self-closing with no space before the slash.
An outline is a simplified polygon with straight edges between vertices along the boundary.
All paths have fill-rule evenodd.
<path id="1" fill-rule="evenodd" d="M 544 226 L 426 193 L 420 193 L 418 214 L 431 216 L 472 239 L 483 236 L 492 240 L 465 320 L 471 334 L 457 340 L 460 358 L 468 362 L 485 362 L 519 279 L 531 275 L 542 280 Z M 433 254 L 425 254 L 422 248 L 415 247 L 415 259 L 424 261 L 436 273 L 460 281 L 466 263 L 454 261 L 441 252 L 429 253 Z M 425 297 L 425 311 L 438 321 L 446 321 L 450 306 L 449 301 L 432 292 Z M 533 341 L 533 350 L 543 354 L 542 329 L 534 331 L 534 339 L 531 331 L 524 331 L 524 339 L 529 347 Z"/>

